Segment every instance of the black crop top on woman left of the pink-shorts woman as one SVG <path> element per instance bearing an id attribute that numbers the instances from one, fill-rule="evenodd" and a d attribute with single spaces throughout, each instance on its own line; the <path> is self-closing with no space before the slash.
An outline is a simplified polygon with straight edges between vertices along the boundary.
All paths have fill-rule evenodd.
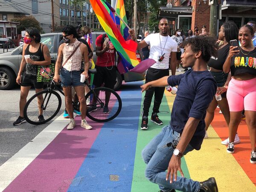
<path id="1" fill-rule="evenodd" d="M 208 61 L 208 66 L 213 67 L 216 70 L 222 70 L 223 71 L 223 64 L 226 61 L 227 55 L 229 53 L 230 44 L 225 45 L 221 49 L 218 49 L 218 57 L 211 57 Z"/>

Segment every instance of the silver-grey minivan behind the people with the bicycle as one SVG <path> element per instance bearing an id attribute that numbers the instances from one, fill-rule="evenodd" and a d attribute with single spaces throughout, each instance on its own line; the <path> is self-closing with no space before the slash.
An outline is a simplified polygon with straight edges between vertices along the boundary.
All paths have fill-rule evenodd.
<path id="1" fill-rule="evenodd" d="M 95 39 L 98 35 L 102 34 L 99 32 L 93 32 L 93 44 L 95 44 Z M 56 61 L 57 52 L 58 52 L 58 44 L 62 40 L 62 32 L 53 32 L 53 33 L 45 33 L 41 35 L 41 42 L 46 44 L 49 48 L 49 52 L 51 55 L 51 60 Z M 1 53 L 0 54 L 0 90 L 9 90 L 15 85 L 17 74 L 20 68 L 20 62 L 22 59 L 22 49 L 23 44 L 14 49 L 13 51 Z M 95 50 L 95 49 L 94 49 Z M 140 54 L 137 54 L 137 57 L 140 57 Z M 96 53 L 93 52 L 93 60 L 96 63 Z M 130 82 L 130 81 L 141 81 L 145 79 L 145 73 L 133 73 L 128 72 L 125 74 L 120 74 L 118 70 L 116 70 L 116 84 L 114 89 L 117 90 L 121 87 L 122 81 Z"/>

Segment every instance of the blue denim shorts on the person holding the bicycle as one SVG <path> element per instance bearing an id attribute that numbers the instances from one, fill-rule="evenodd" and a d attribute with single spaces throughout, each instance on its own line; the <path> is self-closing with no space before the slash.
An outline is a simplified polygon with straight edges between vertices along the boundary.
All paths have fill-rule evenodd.
<path id="1" fill-rule="evenodd" d="M 80 82 L 81 72 L 80 71 L 68 71 L 65 68 L 61 69 L 61 86 L 81 86 L 84 83 Z"/>

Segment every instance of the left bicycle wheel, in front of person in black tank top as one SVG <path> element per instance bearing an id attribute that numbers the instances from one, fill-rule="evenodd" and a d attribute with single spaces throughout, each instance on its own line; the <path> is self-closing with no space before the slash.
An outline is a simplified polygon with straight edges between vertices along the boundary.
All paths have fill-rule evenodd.
<path id="1" fill-rule="evenodd" d="M 39 98 L 41 97 L 41 103 Z M 41 106 L 40 106 L 41 105 Z M 24 118 L 33 125 L 41 125 L 57 115 L 61 108 L 61 96 L 54 90 L 42 90 L 33 95 L 25 105 Z M 38 120 L 39 113 L 44 120 Z"/>

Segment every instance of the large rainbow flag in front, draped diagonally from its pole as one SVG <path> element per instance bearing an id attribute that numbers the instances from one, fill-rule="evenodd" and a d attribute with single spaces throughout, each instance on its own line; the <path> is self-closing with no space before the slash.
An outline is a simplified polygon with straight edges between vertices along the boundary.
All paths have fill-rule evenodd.
<path id="1" fill-rule="evenodd" d="M 122 58 L 123 69 L 125 72 L 128 72 L 139 64 L 136 57 L 137 43 L 132 40 L 125 41 L 122 33 L 116 26 L 115 10 L 106 0 L 90 0 L 90 3 L 98 17 L 99 23 Z"/>

